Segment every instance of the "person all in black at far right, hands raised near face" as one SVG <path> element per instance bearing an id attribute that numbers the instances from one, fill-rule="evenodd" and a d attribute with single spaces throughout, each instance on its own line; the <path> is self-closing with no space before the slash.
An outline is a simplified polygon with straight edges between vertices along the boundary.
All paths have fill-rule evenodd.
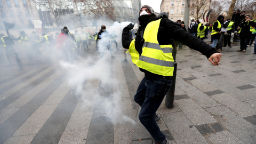
<path id="1" fill-rule="evenodd" d="M 250 15 L 245 15 L 245 19 L 240 23 L 239 27 L 242 28 L 239 34 L 240 36 L 240 50 L 238 51 L 246 51 L 247 39 L 250 38 L 250 28 L 255 27 L 256 24 L 251 21 Z"/>

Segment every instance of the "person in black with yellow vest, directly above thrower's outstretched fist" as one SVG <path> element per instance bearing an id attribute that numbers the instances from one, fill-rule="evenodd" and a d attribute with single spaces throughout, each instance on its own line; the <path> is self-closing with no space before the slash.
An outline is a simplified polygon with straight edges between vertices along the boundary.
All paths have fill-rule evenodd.
<path id="1" fill-rule="evenodd" d="M 212 26 L 212 47 L 215 47 L 218 44 L 219 38 L 220 38 L 220 34 L 221 34 L 221 24 L 224 21 L 224 17 L 222 15 L 219 15 L 217 21 L 213 22 L 213 26 Z"/>

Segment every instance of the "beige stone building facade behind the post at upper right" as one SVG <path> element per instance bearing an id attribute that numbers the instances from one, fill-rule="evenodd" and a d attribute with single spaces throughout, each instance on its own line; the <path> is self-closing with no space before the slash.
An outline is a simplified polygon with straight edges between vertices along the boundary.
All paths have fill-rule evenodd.
<path id="1" fill-rule="evenodd" d="M 198 1 L 198 0 L 197 0 Z M 204 1 L 199 1 L 204 3 Z M 190 12 L 189 12 L 189 19 L 195 19 L 195 1 L 190 1 Z M 205 3 L 204 6 L 202 6 L 202 9 L 199 10 L 199 15 L 203 15 L 203 13 L 209 9 L 210 3 Z M 208 7 L 208 9 L 206 9 Z M 184 13 L 185 13 L 185 0 L 162 0 L 161 6 L 160 6 L 161 12 L 167 12 L 169 14 L 169 19 L 172 21 L 181 20 L 183 21 Z M 207 14 L 207 13 L 206 13 Z M 205 15 L 206 15 L 205 14 Z M 199 18 L 199 21 L 202 23 L 206 23 L 203 21 L 203 17 Z"/>

